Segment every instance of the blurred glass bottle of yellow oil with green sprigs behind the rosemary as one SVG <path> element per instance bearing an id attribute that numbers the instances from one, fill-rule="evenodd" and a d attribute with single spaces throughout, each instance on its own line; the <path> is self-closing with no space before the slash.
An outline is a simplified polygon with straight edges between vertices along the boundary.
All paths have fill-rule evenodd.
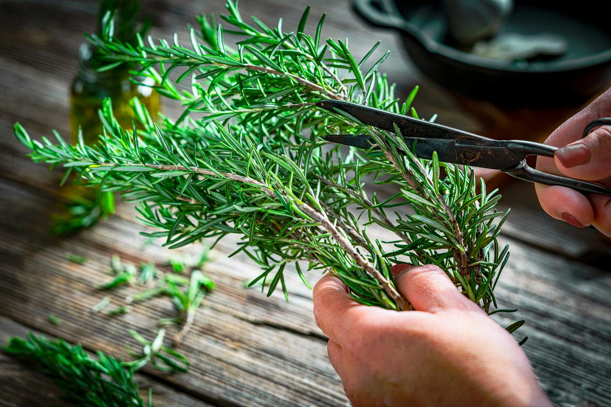
<path id="1" fill-rule="evenodd" d="M 114 37 L 120 41 L 136 41 L 137 34 L 144 35 L 150 27 L 150 18 L 139 20 L 141 0 L 100 0 L 98 9 L 98 35 L 103 21 L 112 21 Z M 130 100 L 139 98 L 152 117 L 159 112 L 159 95 L 151 78 L 134 78 L 133 67 L 121 65 L 110 70 L 100 70 L 106 62 L 96 52 L 95 46 L 84 43 L 78 49 L 78 70 L 70 87 L 71 140 L 78 142 L 79 131 L 87 145 L 93 145 L 102 134 L 98 110 L 105 98 L 112 99 L 112 110 L 119 124 L 131 128 L 134 120 Z M 147 82 L 150 81 L 150 82 Z M 62 211 L 53 215 L 54 234 L 71 234 L 96 223 L 100 218 L 114 213 L 114 195 L 99 188 L 82 185 L 83 179 L 71 178 L 61 190 L 67 203 Z M 71 182 L 74 181 L 74 182 Z"/>

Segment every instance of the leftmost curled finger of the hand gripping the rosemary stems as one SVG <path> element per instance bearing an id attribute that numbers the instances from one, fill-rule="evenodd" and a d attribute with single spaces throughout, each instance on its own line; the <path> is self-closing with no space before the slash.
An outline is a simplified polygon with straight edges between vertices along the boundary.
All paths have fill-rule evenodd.
<path id="1" fill-rule="evenodd" d="M 354 325 L 353 316 L 357 309 L 367 309 L 353 300 L 346 286 L 332 275 L 327 274 L 316 283 L 313 290 L 314 319 L 323 333 L 342 343 L 340 337 Z"/>

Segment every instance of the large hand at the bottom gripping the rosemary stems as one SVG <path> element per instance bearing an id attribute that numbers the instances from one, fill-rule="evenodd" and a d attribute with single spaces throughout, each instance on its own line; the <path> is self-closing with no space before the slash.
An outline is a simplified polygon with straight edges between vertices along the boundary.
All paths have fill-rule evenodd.
<path id="1" fill-rule="evenodd" d="M 354 406 L 551 405 L 513 337 L 439 267 L 395 282 L 415 311 L 359 304 L 331 275 L 314 287 L 316 324 Z"/>

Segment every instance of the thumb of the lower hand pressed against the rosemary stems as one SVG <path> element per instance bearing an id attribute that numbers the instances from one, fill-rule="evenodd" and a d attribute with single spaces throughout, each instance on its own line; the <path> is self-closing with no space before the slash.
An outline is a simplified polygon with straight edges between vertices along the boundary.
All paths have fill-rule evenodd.
<path id="1" fill-rule="evenodd" d="M 395 283 L 417 311 L 435 312 L 444 308 L 481 311 L 458 292 L 450 278 L 435 265 L 409 268 L 395 278 Z"/>

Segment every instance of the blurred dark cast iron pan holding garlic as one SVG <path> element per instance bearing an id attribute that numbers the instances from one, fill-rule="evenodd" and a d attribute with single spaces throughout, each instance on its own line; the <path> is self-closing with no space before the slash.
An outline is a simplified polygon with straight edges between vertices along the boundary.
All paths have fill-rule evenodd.
<path id="1" fill-rule="evenodd" d="M 611 84 L 611 23 L 606 1 L 516 0 L 501 32 L 559 35 L 567 52 L 552 60 L 509 62 L 448 45 L 441 1 L 353 0 L 373 26 L 395 29 L 409 57 L 444 87 L 501 106 L 583 103 Z"/>

